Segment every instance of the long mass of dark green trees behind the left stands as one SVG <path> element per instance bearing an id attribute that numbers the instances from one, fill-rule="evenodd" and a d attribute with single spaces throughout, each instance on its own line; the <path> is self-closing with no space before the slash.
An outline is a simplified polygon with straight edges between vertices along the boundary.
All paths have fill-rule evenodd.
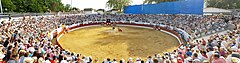
<path id="1" fill-rule="evenodd" d="M 2 0 L 4 12 L 57 12 L 69 11 L 61 0 Z"/>

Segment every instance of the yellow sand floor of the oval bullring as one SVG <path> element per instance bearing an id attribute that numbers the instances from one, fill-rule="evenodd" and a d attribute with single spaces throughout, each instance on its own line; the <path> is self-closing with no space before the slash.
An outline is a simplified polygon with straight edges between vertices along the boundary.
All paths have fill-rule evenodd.
<path id="1" fill-rule="evenodd" d="M 173 36 L 146 28 L 93 26 L 66 33 L 60 38 L 64 49 L 93 59 L 128 59 L 153 56 L 156 53 L 172 52 L 179 43 Z"/>

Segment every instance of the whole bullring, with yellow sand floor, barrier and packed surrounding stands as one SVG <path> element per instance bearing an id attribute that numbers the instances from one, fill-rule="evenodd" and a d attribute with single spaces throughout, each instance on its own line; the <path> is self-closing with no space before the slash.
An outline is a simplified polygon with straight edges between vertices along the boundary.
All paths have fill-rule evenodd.
<path id="1" fill-rule="evenodd" d="M 75 16 L 80 18 L 75 21 Z M 112 18 L 101 20 L 108 16 Z M 121 14 L 39 16 L 0 23 L 0 63 L 18 58 L 21 62 L 16 63 L 240 62 L 239 19 Z"/>

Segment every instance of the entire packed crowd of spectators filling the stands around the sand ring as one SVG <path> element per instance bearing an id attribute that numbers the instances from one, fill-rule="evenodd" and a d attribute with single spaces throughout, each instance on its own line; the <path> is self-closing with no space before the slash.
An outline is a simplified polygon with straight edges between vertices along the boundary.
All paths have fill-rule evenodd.
<path id="1" fill-rule="evenodd" d="M 135 21 L 180 28 L 191 39 L 173 52 L 142 58 L 100 61 L 53 45 L 50 32 L 62 24 L 88 21 Z M 236 18 L 197 15 L 61 15 L 23 17 L 0 23 L 0 63 L 238 63 L 240 62 L 240 21 Z M 218 34 L 217 32 L 226 31 Z"/>

